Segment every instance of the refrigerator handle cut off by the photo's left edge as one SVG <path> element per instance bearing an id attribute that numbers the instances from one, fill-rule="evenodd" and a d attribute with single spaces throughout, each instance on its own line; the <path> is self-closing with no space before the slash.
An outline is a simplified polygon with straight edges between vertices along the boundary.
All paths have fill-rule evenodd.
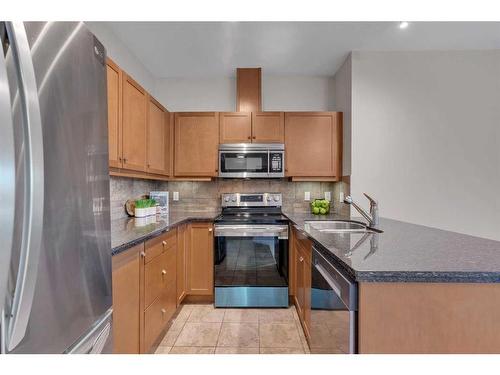
<path id="1" fill-rule="evenodd" d="M 0 24 L 1 25 L 1 24 Z M 14 232 L 16 160 L 9 81 L 3 50 L 0 50 L 0 313 L 7 292 Z M 2 314 L 3 315 L 3 314 Z"/>

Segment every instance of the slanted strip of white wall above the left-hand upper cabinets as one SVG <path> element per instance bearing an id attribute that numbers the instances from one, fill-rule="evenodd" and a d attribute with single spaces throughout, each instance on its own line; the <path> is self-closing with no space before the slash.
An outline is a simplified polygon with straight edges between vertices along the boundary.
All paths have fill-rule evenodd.
<path id="1" fill-rule="evenodd" d="M 106 47 L 108 56 L 149 92 L 154 92 L 155 78 L 115 33 L 102 22 L 85 22 Z M 162 103 L 163 104 L 163 103 Z"/>

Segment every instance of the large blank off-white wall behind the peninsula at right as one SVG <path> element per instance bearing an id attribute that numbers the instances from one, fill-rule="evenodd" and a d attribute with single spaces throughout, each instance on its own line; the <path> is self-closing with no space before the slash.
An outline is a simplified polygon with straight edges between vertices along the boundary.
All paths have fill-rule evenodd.
<path id="1" fill-rule="evenodd" d="M 384 217 L 500 240 L 499 50 L 352 54 L 364 191 Z"/>

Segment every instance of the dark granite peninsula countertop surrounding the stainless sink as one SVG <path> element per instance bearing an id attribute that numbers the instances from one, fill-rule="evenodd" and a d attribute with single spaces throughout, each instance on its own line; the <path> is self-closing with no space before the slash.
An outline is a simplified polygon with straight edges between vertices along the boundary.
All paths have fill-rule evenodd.
<path id="1" fill-rule="evenodd" d="M 326 234 L 304 222 L 348 217 L 285 215 L 359 282 L 500 282 L 500 241 L 384 218 L 383 233 Z"/>

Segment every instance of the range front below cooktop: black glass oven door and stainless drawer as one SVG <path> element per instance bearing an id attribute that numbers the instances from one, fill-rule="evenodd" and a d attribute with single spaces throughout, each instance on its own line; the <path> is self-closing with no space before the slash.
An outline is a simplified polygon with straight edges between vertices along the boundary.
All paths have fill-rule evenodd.
<path id="1" fill-rule="evenodd" d="M 288 226 L 215 225 L 216 307 L 288 306 Z"/>

